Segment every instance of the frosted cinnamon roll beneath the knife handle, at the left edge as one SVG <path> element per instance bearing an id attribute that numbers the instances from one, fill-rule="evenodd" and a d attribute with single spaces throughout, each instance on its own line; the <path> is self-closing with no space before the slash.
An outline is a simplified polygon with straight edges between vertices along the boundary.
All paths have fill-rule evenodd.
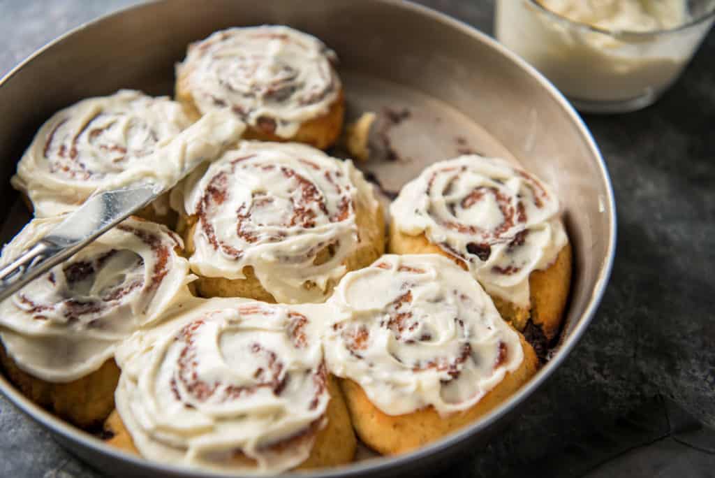
<path id="1" fill-rule="evenodd" d="M 9 263 L 60 218 L 35 219 L 6 245 Z M 129 218 L 0 303 L 1 362 L 30 399 L 79 426 L 114 406 L 117 344 L 189 295 L 181 239 Z"/>

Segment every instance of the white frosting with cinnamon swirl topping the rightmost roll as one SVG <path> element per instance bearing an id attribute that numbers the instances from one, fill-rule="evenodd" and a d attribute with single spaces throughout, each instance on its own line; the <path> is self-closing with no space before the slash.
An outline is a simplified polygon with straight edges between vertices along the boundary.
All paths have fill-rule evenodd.
<path id="1" fill-rule="evenodd" d="M 489 292 L 529 304 L 529 274 L 547 268 L 568 239 L 548 185 L 496 158 L 437 162 L 390 206 L 394 226 L 465 265 Z"/>

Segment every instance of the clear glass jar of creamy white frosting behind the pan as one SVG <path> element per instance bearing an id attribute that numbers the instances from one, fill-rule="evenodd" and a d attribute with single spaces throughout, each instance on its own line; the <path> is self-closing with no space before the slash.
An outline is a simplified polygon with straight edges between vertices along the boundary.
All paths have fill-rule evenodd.
<path id="1" fill-rule="evenodd" d="M 582 112 L 652 104 L 715 19 L 715 0 L 498 0 L 497 39 Z"/>

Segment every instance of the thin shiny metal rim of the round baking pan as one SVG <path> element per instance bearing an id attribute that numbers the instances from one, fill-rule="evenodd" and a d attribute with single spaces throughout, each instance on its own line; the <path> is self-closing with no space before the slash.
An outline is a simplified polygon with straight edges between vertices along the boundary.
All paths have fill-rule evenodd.
<path id="1" fill-rule="evenodd" d="M 112 13 L 99 16 L 97 19 L 87 21 L 77 26 L 76 28 L 67 31 L 66 33 L 52 40 L 51 42 L 44 44 L 44 46 L 40 47 L 35 52 L 30 54 L 29 57 L 24 59 L 16 67 L 14 67 L 7 74 L 5 74 L 4 77 L 0 79 L 0 89 L 4 87 L 4 85 L 9 82 L 12 77 L 17 74 L 17 72 L 21 71 L 21 69 L 26 67 L 27 64 L 34 61 L 34 59 L 41 56 L 42 54 L 46 54 L 51 49 L 53 49 L 53 47 L 58 44 L 61 44 L 61 42 L 64 42 L 70 36 L 77 34 L 79 31 L 87 29 L 88 26 L 92 26 L 94 24 L 99 24 L 102 21 L 107 21 L 109 19 L 114 19 L 116 17 L 123 16 L 130 11 L 147 9 L 150 6 L 167 3 L 169 1 L 170 0 L 151 0 L 143 4 L 128 6 L 124 9 L 119 9 Z M 600 266 L 598 278 L 596 279 L 593 286 L 593 290 L 591 291 L 591 298 L 589 299 L 588 304 L 583 313 L 581 314 L 580 318 L 578 318 L 578 321 L 576 323 L 576 326 L 574 326 L 573 331 L 571 331 L 568 337 L 566 337 L 563 343 L 561 343 L 561 346 L 559 346 L 558 351 L 555 353 L 553 358 L 551 358 L 548 364 L 543 366 L 538 371 L 538 373 L 533 376 L 527 384 L 518 389 L 516 393 L 512 394 L 506 401 L 503 401 L 501 404 L 499 404 L 499 406 L 497 406 L 495 409 L 490 411 L 478 421 L 475 421 L 473 424 L 465 426 L 463 429 L 460 429 L 448 436 L 445 436 L 443 439 L 440 439 L 437 442 L 428 444 L 425 447 L 416 449 L 413 452 L 402 454 L 396 457 L 383 457 L 374 460 L 370 459 L 365 462 L 352 463 L 344 467 L 310 472 L 310 476 L 320 478 L 361 477 L 378 472 L 387 472 L 390 469 L 403 467 L 412 462 L 420 461 L 422 459 L 428 459 L 436 454 L 445 452 L 448 449 L 457 447 L 458 444 L 469 439 L 470 436 L 478 434 L 481 431 L 488 429 L 490 426 L 493 426 L 498 421 L 501 421 L 501 419 L 508 415 L 509 412 L 511 412 L 516 406 L 525 401 L 528 396 L 531 396 L 531 394 L 533 394 L 536 389 L 538 389 L 538 387 L 540 387 L 553 374 L 553 372 L 556 371 L 559 366 L 561 366 L 561 364 L 563 364 L 563 361 L 566 360 L 568 355 L 576 346 L 576 343 L 580 341 L 581 337 L 583 336 L 583 333 L 586 331 L 586 328 L 588 328 L 588 325 L 591 323 L 593 316 L 601 303 L 603 294 L 606 291 L 606 286 L 608 285 L 608 279 L 611 276 L 613 260 L 616 255 L 616 202 L 613 194 L 613 186 L 611 185 L 611 177 L 608 174 L 608 167 L 606 166 L 606 162 L 605 160 L 603 160 L 601 152 L 598 149 L 595 140 L 593 139 L 593 135 L 591 135 L 591 132 L 588 130 L 588 127 L 586 127 L 586 124 L 583 122 L 583 119 L 581 119 L 576 110 L 573 109 L 573 106 L 571 106 L 566 97 L 564 97 L 563 94 L 561 94 L 561 92 L 559 92 L 558 89 L 556 89 L 556 87 L 554 87 L 553 84 L 551 84 L 551 82 L 546 79 L 546 77 L 543 77 L 541 73 L 539 73 L 525 60 L 521 59 L 521 57 L 518 57 L 518 55 L 514 54 L 506 47 L 503 47 L 503 45 L 496 42 L 495 39 L 491 38 L 482 31 L 475 29 L 475 27 L 466 24 L 464 21 L 455 19 L 451 16 L 448 16 L 447 14 L 441 13 L 440 11 L 430 9 L 427 6 L 415 4 L 406 0 L 373 1 L 376 4 L 385 4 L 388 6 L 397 6 L 398 8 L 412 10 L 413 12 L 426 16 L 433 21 L 440 22 L 447 27 L 458 29 L 465 34 L 468 34 L 475 41 L 486 44 L 487 47 L 495 49 L 498 53 L 510 59 L 511 62 L 516 63 L 519 68 L 521 68 L 533 79 L 536 79 L 541 85 L 541 87 L 546 89 L 546 92 L 556 101 L 556 104 L 558 104 L 558 106 L 561 107 L 561 109 L 566 112 L 566 114 L 568 114 L 568 117 L 570 117 L 571 121 L 573 122 L 573 125 L 576 125 L 578 133 L 585 141 L 589 152 L 591 153 L 592 157 L 596 159 L 598 172 L 601 176 L 599 179 L 603 182 L 603 185 L 606 188 L 606 204 L 604 208 L 604 213 L 608 214 L 608 244 L 606 246 L 605 258 Z M 94 453 L 109 455 L 109 457 L 112 457 L 112 459 L 129 462 L 134 467 L 144 469 L 147 472 L 154 472 L 157 475 L 169 474 L 172 476 L 183 477 L 237 476 L 236 474 L 231 474 L 228 472 L 213 472 L 210 470 L 191 469 L 182 466 L 152 462 L 148 459 L 137 457 L 127 452 L 123 452 L 119 449 L 115 449 L 114 447 L 110 447 L 109 445 L 104 444 L 104 442 L 92 436 L 91 434 L 77 429 L 74 426 L 71 426 L 66 421 L 59 419 L 58 417 L 54 416 L 53 414 L 50 414 L 44 409 L 41 409 L 40 406 L 34 404 L 34 402 L 30 401 L 19 391 L 17 391 L 14 386 L 12 386 L 6 379 L 6 377 L 2 374 L 0 374 L 0 392 L 2 392 L 2 394 L 4 394 L 4 396 L 6 396 L 6 398 L 9 399 L 12 404 L 14 404 L 14 406 L 23 411 L 24 414 L 28 415 L 31 419 L 44 426 L 46 429 L 49 429 L 54 434 L 61 436 L 61 438 L 63 439 L 62 441 L 68 440 L 69 442 L 74 442 L 80 447 L 83 447 L 84 449 L 92 451 Z M 62 445 L 66 448 L 66 445 L 64 443 L 62 443 Z M 70 450 L 70 452 L 72 454 L 75 454 L 74 450 Z M 280 476 L 305 477 L 307 475 L 305 474 L 305 472 L 289 472 Z"/>

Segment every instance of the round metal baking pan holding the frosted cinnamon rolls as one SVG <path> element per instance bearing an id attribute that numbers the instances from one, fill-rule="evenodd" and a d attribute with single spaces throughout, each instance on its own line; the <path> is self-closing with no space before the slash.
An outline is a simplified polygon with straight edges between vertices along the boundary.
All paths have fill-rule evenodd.
<path id="1" fill-rule="evenodd" d="M 0 82 L 2 239 L 29 219 L 9 185 L 16 161 L 51 114 L 120 88 L 172 94 L 174 64 L 187 44 L 228 26 L 287 24 L 322 39 L 340 57 L 348 111 L 394 116 L 377 132 L 390 154 L 360 163 L 384 190 L 399 190 L 430 162 L 475 151 L 521 162 L 556 187 L 575 251 L 561 342 L 548 364 L 488 416 L 410 454 L 317 470 L 320 477 L 420 474 L 460 452 L 475 452 L 560 366 L 596 311 L 616 239 L 613 191 L 598 148 L 558 91 L 505 48 L 448 16 L 396 0 L 164 0 L 71 31 Z M 206 477 L 105 446 L 19 394 L 0 391 L 87 463 L 116 476 Z M 232 475 L 235 476 L 235 475 Z M 297 476 L 305 476 L 300 474 Z"/>

